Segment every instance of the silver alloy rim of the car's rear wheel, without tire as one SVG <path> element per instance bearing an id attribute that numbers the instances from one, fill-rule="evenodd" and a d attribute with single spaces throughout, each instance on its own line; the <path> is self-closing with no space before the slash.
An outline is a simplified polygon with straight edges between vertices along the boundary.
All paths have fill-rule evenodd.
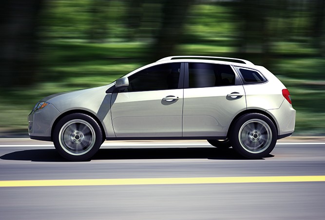
<path id="1" fill-rule="evenodd" d="M 268 149 L 272 141 L 272 131 L 264 120 L 251 119 L 240 127 L 238 138 L 244 150 L 258 154 Z"/>

